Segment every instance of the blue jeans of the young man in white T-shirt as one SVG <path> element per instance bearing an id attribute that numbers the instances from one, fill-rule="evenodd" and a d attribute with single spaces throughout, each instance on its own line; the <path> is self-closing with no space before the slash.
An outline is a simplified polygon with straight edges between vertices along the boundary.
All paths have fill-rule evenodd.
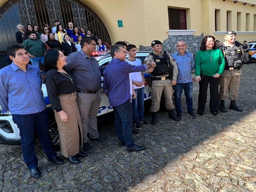
<path id="1" fill-rule="evenodd" d="M 137 97 L 132 99 L 132 121 L 139 123 L 144 120 L 144 89 L 145 87 L 134 89 Z"/>

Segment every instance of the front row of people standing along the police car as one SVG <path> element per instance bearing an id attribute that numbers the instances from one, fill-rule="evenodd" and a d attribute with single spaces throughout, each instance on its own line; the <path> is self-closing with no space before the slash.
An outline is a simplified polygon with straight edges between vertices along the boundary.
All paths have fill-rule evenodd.
<path id="1" fill-rule="evenodd" d="M 36 34 L 33 38 L 36 38 Z M 204 114 L 208 84 L 210 111 L 213 115 L 217 115 L 219 110 L 227 112 L 224 104 L 228 97 L 227 92 L 229 108 L 242 111 L 236 106 L 236 99 L 243 49 L 236 43 L 235 31 L 227 31 L 224 39 L 224 43 L 217 49 L 215 38 L 205 36 L 195 60 L 193 55 L 186 51 L 187 44 L 184 40 L 177 42 L 177 52 L 172 55 L 164 52 L 162 43 L 155 40 L 151 43 L 153 52 L 146 57 L 144 65 L 135 58 L 136 46 L 124 42 L 116 42 L 111 47 L 112 60 L 103 67 L 99 66 L 92 55 L 96 50 L 96 42 L 92 37 L 82 38 L 81 50 L 67 57 L 58 49 L 48 50 L 44 56 L 44 83 L 59 129 L 61 154 L 71 163 L 80 163 L 80 157 L 85 157 L 93 151 L 91 142 L 108 141 L 108 138 L 99 135 L 97 129 L 101 76 L 104 77 L 104 92 L 116 117 L 118 145 L 126 146 L 128 152 L 146 149 L 146 146 L 135 144 L 132 136 L 134 130 L 136 133 L 136 129 L 140 129 L 140 125 L 149 125 L 144 119 L 143 72 L 150 73 L 152 125 L 157 124 L 162 92 L 169 118 L 175 121 L 182 119 L 180 98 L 183 90 L 188 116 L 196 118 L 192 102 L 191 71 L 194 68 L 195 79 L 200 86 L 197 109 L 199 115 Z M 126 59 L 127 53 L 129 57 Z M 41 71 L 38 67 L 28 64 L 30 55 L 21 44 L 9 45 L 7 54 L 13 62 L 0 70 L 1 113 L 12 114 L 13 122 L 20 129 L 24 161 L 30 175 L 39 178 L 41 172 L 34 148 L 35 129 L 48 160 L 55 164 L 63 163 L 56 155 L 49 135 L 48 112 L 41 90 Z M 172 86 L 176 114 L 172 102 Z M 80 144 L 83 151 L 79 150 Z"/>

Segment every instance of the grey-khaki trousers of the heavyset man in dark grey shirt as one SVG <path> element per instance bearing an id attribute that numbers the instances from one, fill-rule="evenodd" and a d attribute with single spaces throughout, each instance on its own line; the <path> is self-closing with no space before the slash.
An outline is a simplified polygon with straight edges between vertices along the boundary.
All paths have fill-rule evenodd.
<path id="1" fill-rule="evenodd" d="M 77 104 L 82 120 L 83 127 L 83 142 L 89 141 L 87 133 L 90 133 L 91 138 L 99 137 L 97 128 L 97 115 L 100 107 L 100 92 L 92 93 L 78 93 Z"/>

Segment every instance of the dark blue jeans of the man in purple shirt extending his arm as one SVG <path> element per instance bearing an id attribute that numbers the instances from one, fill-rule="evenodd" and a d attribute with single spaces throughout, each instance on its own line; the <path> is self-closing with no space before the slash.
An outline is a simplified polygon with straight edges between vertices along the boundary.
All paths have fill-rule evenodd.
<path id="1" fill-rule="evenodd" d="M 132 139 L 132 103 L 131 100 L 125 101 L 123 104 L 113 107 L 115 114 L 115 126 L 117 138 L 124 141 L 126 147 L 134 147 Z"/>

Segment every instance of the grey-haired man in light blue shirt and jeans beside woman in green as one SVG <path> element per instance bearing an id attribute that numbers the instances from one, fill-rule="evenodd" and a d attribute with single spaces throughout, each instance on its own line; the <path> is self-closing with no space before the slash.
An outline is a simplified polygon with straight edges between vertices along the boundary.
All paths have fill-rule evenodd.
<path id="1" fill-rule="evenodd" d="M 186 97 L 188 116 L 193 119 L 196 118 L 195 114 L 193 113 L 193 81 L 191 75 L 191 71 L 193 71 L 195 68 L 195 61 L 193 55 L 186 51 L 187 46 L 188 45 L 184 40 L 178 41 L 178 52 L 175 52 L 172 55 L 172 58 L 175 59 L 178 66 L 177 84 L 174 86 L 174 97 L 177 117 L 180 119 L 182 119 L 180 98 L 183 90 Z"/>

